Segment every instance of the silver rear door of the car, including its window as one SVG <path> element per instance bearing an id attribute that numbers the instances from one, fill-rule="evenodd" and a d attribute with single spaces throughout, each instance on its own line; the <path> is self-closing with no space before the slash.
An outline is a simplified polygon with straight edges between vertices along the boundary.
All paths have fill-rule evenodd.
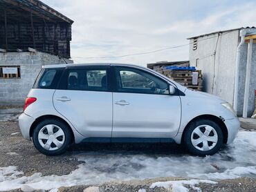
<path id="1" fill-rule="evenodd" d="M 111 137 L 109 66 L 67 68 L 53 95 L 56 110 L 85 137 Z"/>

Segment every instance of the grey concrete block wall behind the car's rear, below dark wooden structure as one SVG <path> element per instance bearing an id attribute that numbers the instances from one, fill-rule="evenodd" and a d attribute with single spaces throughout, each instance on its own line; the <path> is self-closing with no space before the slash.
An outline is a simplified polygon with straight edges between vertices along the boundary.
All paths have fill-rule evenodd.
<path id="1" fill-rule="evenodd" d="M 67 63 L 73 63 L 65 59 Z M 21 78 L 0 78 L 0 105 L 24 104 L 26 95 L 43 65 L 65 64 L 64 59 L 45 52 L 7 52 L 0 53 L 0 66 L 20 66 Z"/>

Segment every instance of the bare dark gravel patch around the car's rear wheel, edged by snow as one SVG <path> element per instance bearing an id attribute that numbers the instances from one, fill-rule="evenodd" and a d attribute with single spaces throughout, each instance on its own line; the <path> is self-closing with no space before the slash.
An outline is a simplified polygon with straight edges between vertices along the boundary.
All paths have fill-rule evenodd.
<path id="1" fill-rule="evenodd" d="M 39 153 L 33 142 L 25 140 L 17 122 L 0 122 L 0 167 L 17 166 L 24 175 L 64 175 L 81 164 L 70 153 L 48 157 Z M 64 168 L 64 169 L 63 169 Z"/>

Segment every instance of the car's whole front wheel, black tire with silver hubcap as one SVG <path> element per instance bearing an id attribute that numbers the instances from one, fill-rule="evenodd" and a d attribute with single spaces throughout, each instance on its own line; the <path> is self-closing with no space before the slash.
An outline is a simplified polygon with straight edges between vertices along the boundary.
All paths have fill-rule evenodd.
<path id="1" fill-rule="evenodd" d="M 213 155 L 223 144 L 223 133 L 212 120 L 199 119 L 186 128 L 184 142 L 194 155 Z"/>

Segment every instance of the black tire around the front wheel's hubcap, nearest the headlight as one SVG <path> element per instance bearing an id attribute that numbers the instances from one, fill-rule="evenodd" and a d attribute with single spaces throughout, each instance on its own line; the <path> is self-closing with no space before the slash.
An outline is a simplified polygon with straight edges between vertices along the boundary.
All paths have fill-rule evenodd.
<path id="1" fill-rule="evenodd" d="M 198 148 L 196 148 L 192 144 L 191 137 L 192 137 L 193 131 L 195 130 L 195 128 L 197 128 L 198 126 L 202 126 L 202 125 L 208 125 L 208 126 L 211 126 L 212 128 L 214 128 L 214 130 L 216 131 L 217 136 L 218 136 L 216 145 L 213 148 L 211 148 L 209 151 L 200 151 Z M 193 133 L 193 137 L 194 137 L 194 133 Z M 184 135 L 184 143 L 185 143 L 185 146 L 187 146 L 188 151 L 190 151 L 190 153 L 192 153 L 194 155 L 199 155 L 202 157 L 204 157 L 205 155 L 213 155 L 214 153 L 217 153 L 217 151 L 219 151 L 219 149 L 223 145 L 223 132 L 221 131 L 220 126 L 217 123 L 213 122 L 212 120 L 199 119 L 199 120 L 196 120 L 195 122 L 192 122 L 191 124 L 189 124 L 188 127 L 186 128 L 185 135 Z M 197 146 L 200 147 L 200 145 L 202 146 L 203 143 L 201 143 Z M 208 146 L 209 146 L 209 143 L 208 143 Z"/>

